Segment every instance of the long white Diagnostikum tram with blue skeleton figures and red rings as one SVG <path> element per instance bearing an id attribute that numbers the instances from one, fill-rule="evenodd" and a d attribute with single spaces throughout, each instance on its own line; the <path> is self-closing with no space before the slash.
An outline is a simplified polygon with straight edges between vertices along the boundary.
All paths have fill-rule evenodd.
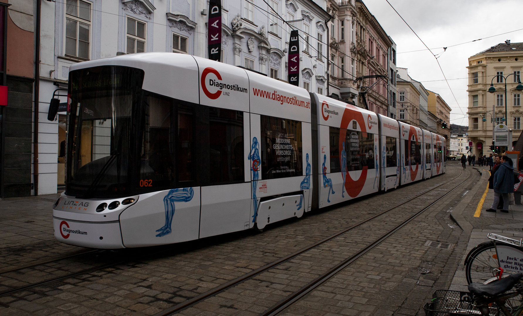
<path id="1" fill-rule="evenodd" d="M 90 60 L 69 82 L 66 190 L 53 206 L 66 244 L 261 229 L 445 172 L 439 135 L 209 59 Z"/>

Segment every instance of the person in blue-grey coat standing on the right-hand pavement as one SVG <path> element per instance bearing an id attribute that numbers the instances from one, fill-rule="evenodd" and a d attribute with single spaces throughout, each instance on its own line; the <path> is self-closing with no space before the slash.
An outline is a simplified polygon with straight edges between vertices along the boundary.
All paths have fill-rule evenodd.
<path id="1" fill-rule="evenodd" d="M 508 156 L 502 156 L 502 163 L 496 168 L 493 174 L 494 202 L 487 212 L 495 212 L 496 205 L 500 197 L 503 197 L 502 212 L 508 213 L 508 193 L 514 192 L 514 167 L 511 166 L 512 160 Z M 490 183 L 489 183 L 490 186 Z"/>

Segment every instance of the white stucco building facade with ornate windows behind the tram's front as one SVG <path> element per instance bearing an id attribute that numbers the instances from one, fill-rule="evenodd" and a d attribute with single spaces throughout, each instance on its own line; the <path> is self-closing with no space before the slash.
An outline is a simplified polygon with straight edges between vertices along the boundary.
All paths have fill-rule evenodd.
<path id="1" fill-rule="evenodd" d="M 269 6 L 267 5 L 269 3 Z M 287 81 L 291 26 L 300 38 L 300 87 L 326 94 L 327 1 L 222 0 L 222 56 Z M 42 1 L 39 95 L 39 194 L 64 185 L 66 113 L 47 120 L 53 92 L 66 95 L 69 67 L 84 60 L 140 52 L 207 58 L 208 3 L 196 0 Z M 281 19 L 279 18 L 281 17 Z M 59 97 L 66 102 L 66 96 Z M 103 132 L 100 130 L 100 132 Z M 96 135 L 98 136 L 98 135 Z"/>

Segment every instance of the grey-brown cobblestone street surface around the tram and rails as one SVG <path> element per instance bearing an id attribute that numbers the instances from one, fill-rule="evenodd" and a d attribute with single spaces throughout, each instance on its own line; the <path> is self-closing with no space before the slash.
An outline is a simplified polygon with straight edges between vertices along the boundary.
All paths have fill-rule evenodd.
<path id="1" fill-rule="evenodd" d="M 263 232 L 246 230 L 182 244 L 117 251 L 94 251 L 56 241 L 51 206 L 58 195 L 3 199 L 0 314 L 161 314 L 434 188 L 179 311 L 183 315 L 258 315 L 464 181 L 280 312 L 311 316 L 422 315 L 422 307 L 434 290 L 463 289 L 467 284 L 463 258 L 484 241 L 487 232 L 523 236 L 523 207 L 511 205 L 511 211 L 503 215 L 485 214 L 486 205 L 492 203 L 490 192 L 483 211 L 474 217 L 488 179 L 488 172 L 480 171 L 482 175 L 476 169 L 463 171 L 457 164 L 448 163 L 444 175 L 271 224 Z M 430 241 L 451 246 L 431 247 Z M 69 258 L 55 260 L 63 257 Z M 415 268 L 430 272 L 420 274 Z M 76 275 L 70 276 L 72 273 Z M 62 278 L 53 281 L 57 277 Z M 52 282 L 46 283 L 48 280 Z M 31 286 L 39 282 L 42 284 Z M 16 290 L 20 287 L 26 288 Z"/>

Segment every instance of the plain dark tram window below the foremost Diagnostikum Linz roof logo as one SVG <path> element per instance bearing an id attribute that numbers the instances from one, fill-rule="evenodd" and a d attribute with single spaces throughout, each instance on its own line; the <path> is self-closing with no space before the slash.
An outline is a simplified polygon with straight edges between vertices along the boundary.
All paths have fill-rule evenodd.
<path id="1" fill-rule="evenodd" d="M 243 112 L 209 108 L 210 183 L 244 179 Z"/>

